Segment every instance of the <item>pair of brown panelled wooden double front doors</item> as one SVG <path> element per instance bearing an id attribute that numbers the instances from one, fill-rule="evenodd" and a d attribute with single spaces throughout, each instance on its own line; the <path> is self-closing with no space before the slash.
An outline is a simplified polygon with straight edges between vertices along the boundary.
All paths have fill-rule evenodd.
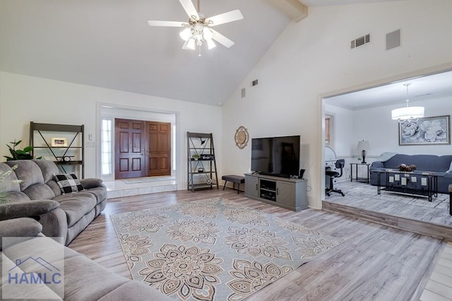
<path id="1" fill-rule="evenodd" d="M 114 119 L 115 179 L 171 175 L 171 123 Z"/>

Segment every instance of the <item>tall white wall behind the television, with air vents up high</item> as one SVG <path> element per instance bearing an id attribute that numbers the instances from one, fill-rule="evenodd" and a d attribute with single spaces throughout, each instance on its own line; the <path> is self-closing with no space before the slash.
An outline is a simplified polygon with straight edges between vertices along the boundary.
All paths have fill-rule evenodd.
<path id="1" fill-rule="evenodd" d="M 451 11 L 450 0 L 310 7 L 309 16 L 286 28 L 223 106 L 224 172 L 249 170 L 251 148 L 234 144 L 238 126 L 251 137 L 301 134 L 309 206 L 321 208 L 320 95 L 452 62 L 452 40 L 444 38 L 452 28 Z M 386 51 L 386 33 L 399 28 L 402 46 Z M 367 33 L 371 43 L 350 49 L 351 40 Z M 251 88 L 256 78 L 259 84 Z"/>

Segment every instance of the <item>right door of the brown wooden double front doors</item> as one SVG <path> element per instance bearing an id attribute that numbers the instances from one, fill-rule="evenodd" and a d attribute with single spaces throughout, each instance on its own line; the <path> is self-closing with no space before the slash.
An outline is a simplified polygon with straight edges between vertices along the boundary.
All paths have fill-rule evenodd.
<path id="1" fill-rule="evenodd" d="M 171 123 L 146 122 L 148 176 L 171 175 Z"/>

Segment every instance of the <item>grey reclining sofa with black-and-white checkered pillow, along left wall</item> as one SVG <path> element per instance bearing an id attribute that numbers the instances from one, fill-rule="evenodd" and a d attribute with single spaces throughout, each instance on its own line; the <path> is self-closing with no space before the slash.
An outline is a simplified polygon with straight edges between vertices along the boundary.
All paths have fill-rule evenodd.
<path id="1" fill-rule="evenodd" d="M 77 179 L 81 185 L 69 187 L 76 192 L 64 194 L 68 187 L 61 188 L 59 184 L 64 182 L 55 181 L 54 175 L 61 172 L 49 160 L 8 161 L 0 163 L 0 171 L 11 172 L 1 182 L 8 204 L 0 206 L 0 220 L 35 218 L 45 236 L 60 237 L 62 244 L 68 245 L 107 204 L 101 179 Z"/>

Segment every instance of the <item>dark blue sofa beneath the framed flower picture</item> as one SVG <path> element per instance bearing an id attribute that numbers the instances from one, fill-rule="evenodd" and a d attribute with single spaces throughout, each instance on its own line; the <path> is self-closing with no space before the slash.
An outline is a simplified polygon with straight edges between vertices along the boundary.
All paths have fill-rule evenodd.
<path id="1" fill-rule="evenodd" d="M 370 184 L 377 185 L 378 175 L 373 172 L 376 169 L 395 169 L 398 170 L 400 164 L 416 165 L 416 172 L 439 172 L 441 177 L 438 177 L 438 192 L 441 194 L 448 194 L 448 186 L 452 184 L 452 155 L 405 155 L 394 154 L 388 156 L 390 158 L 383 158 L 374 161 L 369 167 Z M 415 176 L 415 175 L 413 175 Z M 412 183 L 417 189 L 422 185 L 422 175 L 415 176 L 417 182 Z M 386 184 L 386 177 L 381 176 L 381 184 Z"/>

